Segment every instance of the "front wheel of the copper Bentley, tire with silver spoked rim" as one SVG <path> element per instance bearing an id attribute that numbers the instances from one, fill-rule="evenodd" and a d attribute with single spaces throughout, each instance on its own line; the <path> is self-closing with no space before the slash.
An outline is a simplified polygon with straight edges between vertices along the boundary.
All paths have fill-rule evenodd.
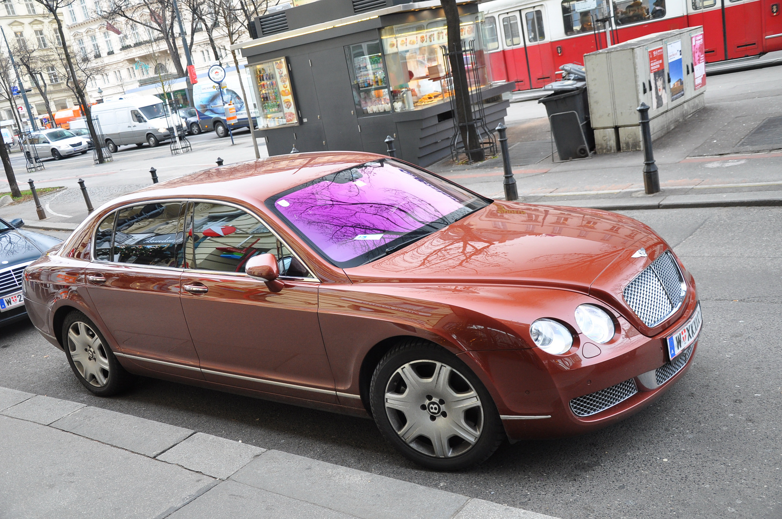
<path id="1" fill-rule="evenodd" d="M 445 370 L 443 367 L 450 370 Z M 436 373 L 447 374 L 447 388 L 443 389 L 442 395 L 421 396 L 421 407 L 419 407 L 414 393 L 408 391 L 404 384 L 404 377 L 400 374 L 404 368 L 407 368 L 405 371 L 407 376 L 411 376 L 410 370 L 414 370 L 412 376 L 418 376 L 419 382 L 425 381 L 429 376 L 427 370 L 432 370 L 430 379 L 432 384 L 436 381 Z M 425 388 L 425 385 L 419 387 Z M 400 396 L 400 402 L 406 398 L 411 399 L 411 402 L 405 402 L 407 411 L 386 406 L 386 391 L 389 388 L 392 388 L 391 392 Z M 439 389 L 429 388 L 428 391 L 437 392 Z M 463 407 L 462 409 L 465 410 L 462 410 L 460 415 L 454 406 L 449 406 L 450 402 L 444 400 L 444 397 L 451 397 L 460 402 L 464 402 L 465 397 L 468 400 L 474 397 L 475 400 L 471 401 L 472 407 Z M 480 379 L 453 353 L 423 339 L 411 338 L 400 342 L 382 357 L 375 368 L 375 374 L 372 375 L 369 399 L 375 424 L 378 425 L 382 435 L 407 459 L 429 469 L 457 471 L 480 464 L 491 456 L 505 439 L 497 406 L 494 405 Z M 414 416 L 408 420 L 406 412 L 413 413 Z M 447 413 L 451 413 L 450 419 Z M 441 420 L 439 424 L 442 425 L 436 428 L 434 424 L 438 420 Z M 409 430 L 406 429 L 408 421 L 411 427 L 413 424 L 419 424 L 420 428 L 416 431 L 421 432 L 415 436 L 411 435 L 408 441 L 405 441 L 400 436 L 400 432 Z M 429 421 L 432 422 L 431 428 L 429 428 Z M 451 427 L 452 424 L 456 424 L 457 427 Z M 435 436 L 439 436 L 442 441 L 443 433 L 439 431 L 443 428 L 447 436 L 441 444 L 442 456 L 438 456 L 437 446 L 426 434 L 437 431 Z M 454 434 L 454 431 L 468 432 L 468 436 L 472 435 L 473 442 L 466 440 L 464 436 Z"/>

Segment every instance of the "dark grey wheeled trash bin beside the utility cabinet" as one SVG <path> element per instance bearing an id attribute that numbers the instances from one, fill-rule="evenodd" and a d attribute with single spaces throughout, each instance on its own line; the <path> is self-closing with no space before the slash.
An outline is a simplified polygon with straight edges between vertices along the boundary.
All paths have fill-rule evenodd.
<path id="1" fill-rule="evenodd" d="M 547 84 L 551 95 L 538 100 L 546 106 L 551 135 L 561 160 L 584 159 L 594 150 L 594 132 L 589 120 L 589 98 L 584 81 Z"/>

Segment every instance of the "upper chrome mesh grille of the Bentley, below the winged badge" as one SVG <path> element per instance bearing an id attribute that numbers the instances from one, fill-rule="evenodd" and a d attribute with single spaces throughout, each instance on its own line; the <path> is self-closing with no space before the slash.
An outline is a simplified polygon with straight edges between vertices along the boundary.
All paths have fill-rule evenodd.
<path id="1" fill-rule="evenodd" d="M 637 275 L 622 292 L 630 309 L 652 328 L 681 306 L 685 285 L 679 265 L 670 251 L 663 252 Z"/>

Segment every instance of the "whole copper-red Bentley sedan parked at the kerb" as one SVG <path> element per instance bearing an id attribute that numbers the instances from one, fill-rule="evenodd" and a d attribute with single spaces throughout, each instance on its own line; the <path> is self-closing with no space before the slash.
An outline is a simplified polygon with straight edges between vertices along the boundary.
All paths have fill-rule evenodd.
<path id="1" fill-rule="evenodd" d="M 362 152 L 120 197 L 23 288 L 95 395 L 140 374 L 371 416 L 436 470 L 636 413 L 701 329 L 692 276 L 646 225 L 486 199 Z"/>

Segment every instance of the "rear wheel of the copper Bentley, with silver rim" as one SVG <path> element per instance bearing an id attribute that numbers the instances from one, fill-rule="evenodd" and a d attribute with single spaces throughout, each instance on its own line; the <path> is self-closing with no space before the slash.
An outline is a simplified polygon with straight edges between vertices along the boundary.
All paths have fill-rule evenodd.
<path id="1" fill-rule="evenodd" d="M 74 333 L 70 334 L 72 329 Z M 81 352 L 83 341 L 91 341 L 95 348 L 90 345 L 89 349 L 84 348 L 84 352 Z M 133 380 L 132 375 L 117 362 L 117 357 L 98 327 L 84 313 L 74 310 L 66 316 L 63 322 L 63 348 L 70 369 L 74 370 L 78 381 L 96 396 L 116 395 Z M 77 357 L 75 360 L 74 356 Z"/>

